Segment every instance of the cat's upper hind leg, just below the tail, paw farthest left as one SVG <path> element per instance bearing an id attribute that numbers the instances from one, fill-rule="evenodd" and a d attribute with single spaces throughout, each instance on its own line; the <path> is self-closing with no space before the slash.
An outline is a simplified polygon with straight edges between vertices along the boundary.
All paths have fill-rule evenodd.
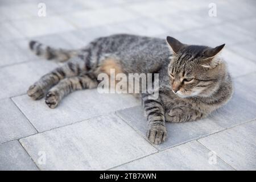
<path id="1" fill-rule="evenodd" d="M 83 61 L 79 57 L 76 57 L 65 63 L 63 66 L 42 76 L 28 88 L 28 96 L 34 100 L 43 98 L 46 92 L 63 78 L 77 76 L 84 71 L 85 67 L 82 62 Z"/>

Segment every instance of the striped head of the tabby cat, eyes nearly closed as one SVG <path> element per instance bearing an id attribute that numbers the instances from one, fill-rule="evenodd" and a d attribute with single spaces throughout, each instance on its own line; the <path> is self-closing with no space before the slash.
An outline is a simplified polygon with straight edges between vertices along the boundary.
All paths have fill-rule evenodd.
<path id="1" fill-rule="evenodd" d="M 172 91 L 179 97 L 210 97 L 226 75 L 224 61 L 217 54 L 225 46 L 215 48 L 191 46 L 167 36 L 174 56 L 168 66 Z"/>

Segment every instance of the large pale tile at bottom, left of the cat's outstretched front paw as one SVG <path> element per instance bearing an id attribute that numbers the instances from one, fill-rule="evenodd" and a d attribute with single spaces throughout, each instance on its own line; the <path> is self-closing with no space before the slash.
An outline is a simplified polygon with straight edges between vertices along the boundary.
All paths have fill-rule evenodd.
<path id="1" fill-rule="evenodd" d="M 117 116 L 105 115 L 20 139 L 36 162 L 46 154 L 43 170 L 103 170 L 156 152 Z"/>

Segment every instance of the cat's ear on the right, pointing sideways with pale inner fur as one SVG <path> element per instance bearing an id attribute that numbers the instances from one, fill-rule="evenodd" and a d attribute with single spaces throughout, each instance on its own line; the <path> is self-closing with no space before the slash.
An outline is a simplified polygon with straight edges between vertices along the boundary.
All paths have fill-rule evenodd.
<path id="1" fill-rule="evenodd" d="M 221 52 L 224 46 L 225 44 L 222 44 L 221 46 L 217 46 L 215 48 L 209 48 L 204 55 L 207 58 L 203 60 L 203 64 L 201 66 L 209 69 L 216 68 L 221 61 L 219 59 L 215 59 L 215 57 Z"/>

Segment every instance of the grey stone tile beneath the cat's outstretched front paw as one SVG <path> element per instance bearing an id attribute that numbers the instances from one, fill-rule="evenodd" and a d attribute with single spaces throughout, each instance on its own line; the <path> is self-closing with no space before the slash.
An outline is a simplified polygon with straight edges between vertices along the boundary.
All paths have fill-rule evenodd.
<path id="1" fill-rule="evenodd" d="M 141 106 L 117 111 L 117 115 L 127 121 L 129 125 L 146 138 L 147 121 L 143 115 Z M 167 140 L 160 145 L 155 145 L 158 150 L 164 150 L 191 140 L 199 139 L 223 129 L 210 119 L 185 123 L 166 123 L 166 127 Z"/>

